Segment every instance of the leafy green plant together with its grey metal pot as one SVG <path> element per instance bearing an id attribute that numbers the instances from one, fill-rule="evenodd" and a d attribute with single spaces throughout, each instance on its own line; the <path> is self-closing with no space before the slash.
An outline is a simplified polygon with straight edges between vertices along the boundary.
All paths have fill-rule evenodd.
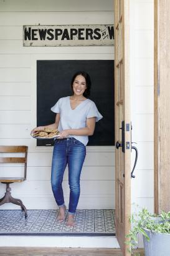
<path id="1" fill-rule="evenodd" d="M 145 256 L 170 255 L 170 212 L 152 215 L 142 209 L 131 216 L 130 222 L 131 230 L 126 235 L 130 252 L 138 245 L 138 234 L 142 234 Z"/>

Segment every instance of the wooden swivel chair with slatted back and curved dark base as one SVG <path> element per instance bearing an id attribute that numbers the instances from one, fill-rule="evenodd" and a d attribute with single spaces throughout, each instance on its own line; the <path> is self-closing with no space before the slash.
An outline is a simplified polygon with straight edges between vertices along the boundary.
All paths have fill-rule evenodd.
<path id="1" fill-rule="evenodd" d="M 6 184 L 6 193 L 4 197 L 0 199 L 0 205 L 5 204 L 5 203 L 12 203 L 12 204 L 17 204 L 21 206 L 21 209 L 24 210 L 25 212 L 25 218 L 27 218 L 27 209 L 26 207 L 22 204 L 22 201 L 20 199 L 14 199 L 11 195 L 11 187 L 9 187 L 9 184 L 14 183 L 14 182 L 23 182 L 26 180 L 27 176 L 27 151 L 28 147 L 26 145 L 17 145 L 17 146 L 0 146 L 0 153 L 1 155 L 4 155 L 2 153 L 25 153 L 24 157 L 1 157 L 0 156 L 0 163 L 24 163 L 24 177 L 0 177 L 0 182 L 3 184 Z M 12 168 L 12 167 L 11 167 Z"/>

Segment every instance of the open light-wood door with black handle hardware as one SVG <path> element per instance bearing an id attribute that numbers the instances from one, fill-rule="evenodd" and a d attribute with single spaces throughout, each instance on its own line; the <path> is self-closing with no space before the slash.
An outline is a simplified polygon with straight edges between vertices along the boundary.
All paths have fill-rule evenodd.
<path id="1" fill-rule="evenodd" d="M 131 214 L 131 121 L 130 121 L 129 1 L 115 0 L 115 161 L 116 238 L 123 255 L 130 255 L 125 235 Z"/>

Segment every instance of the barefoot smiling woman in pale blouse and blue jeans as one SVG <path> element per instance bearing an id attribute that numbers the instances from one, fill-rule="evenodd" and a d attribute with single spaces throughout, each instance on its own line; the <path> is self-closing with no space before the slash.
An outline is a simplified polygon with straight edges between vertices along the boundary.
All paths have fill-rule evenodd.
<path id="1" fill-rule="evenodd" d="M 51 108 L 56 113 L 55 123 L 37 127 L 37 129 L 49 127 L 60 131 L 60 136 L 54 142 L 51 184 L 59 206 L 58 219 L 62 222 L 65 220 L 66 209 L 62 180 L 68 164 L 70 186 L 68 226 L 75 225 L 74 217 L 80 196 L 80 174 L 85 160 L 88 135 L 93 135 L 95 122 L 102 119 L 95 103 L 87 99 L 90 95 L 90 76 L 86 72 L 77 72 L 72 78 L 71 87 L 73 95 L 60 98 Z"/>

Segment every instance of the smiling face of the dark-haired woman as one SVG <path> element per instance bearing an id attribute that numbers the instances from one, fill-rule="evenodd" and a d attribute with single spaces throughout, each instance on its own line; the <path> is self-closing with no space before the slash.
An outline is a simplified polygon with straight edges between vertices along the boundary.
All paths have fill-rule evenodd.
<path id="1" fill-rule="evenodd" d="M 82 75 L 78 75 L 77 77 L 75 77 L 75 80 L 73 81 L 74 94 L 76 94 L 77 96 L 81 96 L 85 92 L 86 88 L 87 86 L 85 77 L 83 77 Z"/>

